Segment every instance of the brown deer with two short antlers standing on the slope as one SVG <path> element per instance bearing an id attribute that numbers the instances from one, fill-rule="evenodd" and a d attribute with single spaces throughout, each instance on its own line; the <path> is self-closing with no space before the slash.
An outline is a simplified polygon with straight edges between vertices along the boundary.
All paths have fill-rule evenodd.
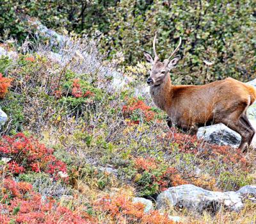
<path id="1" fill-rule="evenodd" d="M 168 127 L 175 125 L 196 134 L 199 127 L 222 123 L 241 135 L 239 149 L 246 152 L 255 134 L 246 116 L 246 110 L 256 99 L 255 88 L 231 77 L 204 85 L 173 85 L 170 71 L 180 60 L 175 53 L 182 40 L 179 38 L 172 54 L 161 61 L 156 39 L 157 33 L 153 41 L 154 59 L 144 51 L 145 60 L 151 65 L 147 84 L 154 104 L 168 115 Z"/>

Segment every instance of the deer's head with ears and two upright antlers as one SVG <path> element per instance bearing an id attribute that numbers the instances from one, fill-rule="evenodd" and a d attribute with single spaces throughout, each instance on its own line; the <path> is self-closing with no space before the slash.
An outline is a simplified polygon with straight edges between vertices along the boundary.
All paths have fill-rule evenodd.
<path id="1" fill-rule="evenodd" d="M 177 65 L 178 61 L 180 60 L 180 56 L 176 56 L 172 60 L 172 56 L 179 50 L 180 44 L 181 44 L 181 38 L 179 40 L 179 44 L 176 47 L 176 49 L 172 52 L 170 57 L 168 59 L 165 59 L 163 62 L 159 61 L 159 57 L 157 56 L 156 52 L 156 37 L 157 33 L 154 37 L 153 41 L 153 50 L 154 50 L 154 60 L 152 56 L 147 52 L 144 51 L 145 59 L 148 63 L 151 64 L 151 70 L 150 70 L 150 77 L 147 79 L 147 83 L 149 86 L 159 86 L 159 84 L 164 82 L 164 78 L 170 72 L 170 70 Z"/>

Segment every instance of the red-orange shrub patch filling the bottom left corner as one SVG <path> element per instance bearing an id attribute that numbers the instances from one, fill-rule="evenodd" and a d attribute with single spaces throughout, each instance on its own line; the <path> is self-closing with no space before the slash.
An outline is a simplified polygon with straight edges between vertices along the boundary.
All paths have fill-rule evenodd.
<path id="1" fill-rule="evenodd" d="M 4 179 L 0 223 L 96 223 L 86 212 L 71 211 L 55 200 L 43 200 L 32 190 L 31 184 Z"/>

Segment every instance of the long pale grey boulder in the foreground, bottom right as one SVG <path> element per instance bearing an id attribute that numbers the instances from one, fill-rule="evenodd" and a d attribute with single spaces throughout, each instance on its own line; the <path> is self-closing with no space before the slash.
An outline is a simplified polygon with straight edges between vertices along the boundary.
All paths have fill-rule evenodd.
<path id="1" fill-rule="evenodd" d="M 168 207 L 186 208 L 190 211 L 202 213 L 203 211 L 216 212 L 221 205 L 231 211 L 243 209 L 241 194 L 234 191 L 218 192 L 208 191 L 193 184 L 184 184 L 172 187 L 157 196 L 157 209 Z"/>

